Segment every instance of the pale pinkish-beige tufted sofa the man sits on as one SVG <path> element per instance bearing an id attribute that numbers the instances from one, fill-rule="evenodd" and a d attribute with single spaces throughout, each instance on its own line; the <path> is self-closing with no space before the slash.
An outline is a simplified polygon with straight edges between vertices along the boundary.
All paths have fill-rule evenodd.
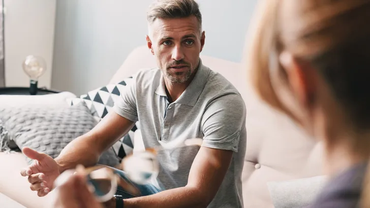
<path id="1" fill-rule="evenodd" d="M 245 207 L 273 207 L 268 182 L 322 174 L 321 145 L 256 97 L 241 63 L 204 55 L 201 58 L 205 65 L 232 82 L 246 103 L 248 139 L 242 175 Z M 145 46 L 139 47 L 129 55 L 110 82 L 118 82 L 140 68 L 153 66 L 156 62 L 149 50 Z M 26 179 L 19 175 L 19 170 L 26 166 L 22 155 L 0 153 L 0 164 L 0 193 L 26 207 L 43 207 L 48 197 L 40 198 L 29 191 Z M 22 207 L 15 202 L 17 205 L 9 205 L 13 203 L 9 201 L 8 206 L 2 205 L 2 201 L 4 196 L 0 196 L 0 207 Z"/>

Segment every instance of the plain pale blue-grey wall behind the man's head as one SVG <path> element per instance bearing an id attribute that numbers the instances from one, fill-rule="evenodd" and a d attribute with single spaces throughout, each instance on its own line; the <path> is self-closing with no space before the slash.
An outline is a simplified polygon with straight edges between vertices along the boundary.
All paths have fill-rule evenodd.
<path id="1" fill-rule="evenodd" d="M 52 88 L 79 95 L 107 84 L 127 55 L 146 43 L 151 2 L 57 1 Z M 240 61 L 257 0 L 198 2 L 206 31 L 202 53 Z"/>

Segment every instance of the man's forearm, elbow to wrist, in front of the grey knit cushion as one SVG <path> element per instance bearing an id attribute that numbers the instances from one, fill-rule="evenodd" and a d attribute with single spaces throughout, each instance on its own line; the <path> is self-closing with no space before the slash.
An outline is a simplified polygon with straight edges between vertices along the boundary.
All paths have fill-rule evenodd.
<path id="1" fill-rule="evenodd" d="M 71 168 L 75 168 L 77 164 L 84 166 L 95 165 L 99 160 L 99 153 L 92 149 L 86 142 L 86 135 L 82 135 L 71 143 L 69 143 L 55 158 L 59 165 L 60 173 Z"/>

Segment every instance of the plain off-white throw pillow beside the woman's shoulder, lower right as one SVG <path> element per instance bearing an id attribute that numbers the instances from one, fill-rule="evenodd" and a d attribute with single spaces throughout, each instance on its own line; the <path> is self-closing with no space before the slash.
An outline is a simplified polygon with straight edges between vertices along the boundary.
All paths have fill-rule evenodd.
<path id="1" fill-rule="evenodd" d="M 268 190 L 275 208 L 306 207 L 316 198 L 327 181 L 317 176 L 290 181 L 268 182 Z"/>

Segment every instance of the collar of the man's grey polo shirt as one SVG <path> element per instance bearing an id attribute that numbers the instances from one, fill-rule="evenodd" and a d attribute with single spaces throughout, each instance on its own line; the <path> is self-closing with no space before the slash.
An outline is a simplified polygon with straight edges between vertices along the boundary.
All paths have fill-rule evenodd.
<path id="1" fill-rule="evenodd" d="M 202 93 L 205 84 L 207 83 L 207 78 L 209 75 L 209 68 L 202 64 L 202 60 L 199 58 L 199 66 L 197 73 L 195 74 L 192 82 L 186 88 L 186 90 L 180 95 L 180 97 L 174 101 L 174 103 L 179 103 L 188 106 L 195 106 L 200 94 Z M 161 76 L 160 84 L 156 90 L 156 94 L 160 96 L 166 96 L 166 85 L 163 75 Z"/>

